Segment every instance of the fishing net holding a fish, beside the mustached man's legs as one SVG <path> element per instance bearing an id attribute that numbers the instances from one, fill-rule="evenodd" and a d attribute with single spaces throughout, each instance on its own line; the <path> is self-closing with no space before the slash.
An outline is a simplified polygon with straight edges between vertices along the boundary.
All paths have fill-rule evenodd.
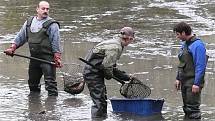
<path id="1" fill-rule="evenodd" d="M 82 75 L 83 66 L 76 63 L 65 63 L 61 69 L 63 74 L 64 91 L 72 95 L 80 94 L 84 90 Z"/>

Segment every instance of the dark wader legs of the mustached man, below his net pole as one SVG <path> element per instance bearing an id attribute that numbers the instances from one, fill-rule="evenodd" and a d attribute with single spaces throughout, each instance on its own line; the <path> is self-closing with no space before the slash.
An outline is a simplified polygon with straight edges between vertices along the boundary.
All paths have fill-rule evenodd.
<path id="1" fill-rule="evenodd" d="M 44 76 L 45 89 L 48 91 L 48 95 L 58 95 L 56 68 L 53 65 L 31 60 L 28 75 L 28 84 L 31 92 L 40 92 L 40 79 Z"/>

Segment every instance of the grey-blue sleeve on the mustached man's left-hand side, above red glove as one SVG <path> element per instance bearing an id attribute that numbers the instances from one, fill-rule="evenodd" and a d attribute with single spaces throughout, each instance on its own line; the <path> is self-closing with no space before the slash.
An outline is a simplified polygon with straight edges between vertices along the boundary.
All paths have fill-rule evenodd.
<path id="1" fill-rule="evenodd" d="M 20 29 L 19 33 L 17 34 L 14 43 L 20 47 L 27 42 L 27 34 L 26 34 L 26 25 L 27 21 L 23 24 L 22 28 Z"/>

